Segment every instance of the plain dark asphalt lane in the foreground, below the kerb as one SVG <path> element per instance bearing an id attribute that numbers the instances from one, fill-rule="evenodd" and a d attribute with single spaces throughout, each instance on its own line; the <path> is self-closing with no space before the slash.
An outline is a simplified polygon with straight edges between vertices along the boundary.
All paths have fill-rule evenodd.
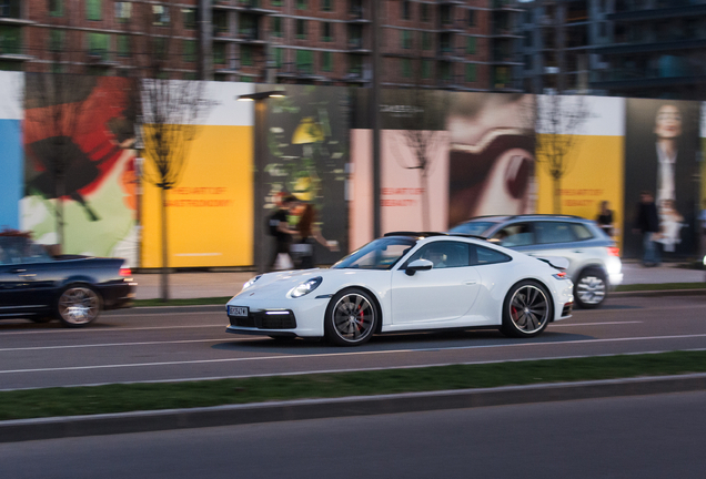
<path id="1" fill-rule="evenodd" d="M 2 478 L 703 478 L 706 393 L 0 445 Z"/>

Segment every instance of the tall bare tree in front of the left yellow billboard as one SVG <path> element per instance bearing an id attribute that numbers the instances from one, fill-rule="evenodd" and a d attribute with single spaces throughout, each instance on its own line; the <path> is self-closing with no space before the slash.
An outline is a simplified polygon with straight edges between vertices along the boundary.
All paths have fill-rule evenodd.
<path id="1" fill-rule="evenodd" d="M 160 188 L 162 300 L 169 299 L 168 192 L 183 175 L 191 142 L 209 108 L 203 82 L 171 79 L 179 74 L 182 54 L 191 54 L 180 51 L 179 6 L 175 1 L 133 2 L 132 21 L 125 26 L 131 40 L 132 104 L 144 161 L 142 180 Z"/>

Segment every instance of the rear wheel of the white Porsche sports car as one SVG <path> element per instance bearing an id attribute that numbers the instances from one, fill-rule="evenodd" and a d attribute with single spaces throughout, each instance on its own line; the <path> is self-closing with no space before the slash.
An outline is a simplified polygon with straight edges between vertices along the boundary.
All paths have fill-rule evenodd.
<path id="1" fill-rule="evenodd" d="M 536 336 L 546 328 L 551 315 L 552 304 L 544 287 L 521 282 L 505 297 L 502 332 L 514 337 Z"/>

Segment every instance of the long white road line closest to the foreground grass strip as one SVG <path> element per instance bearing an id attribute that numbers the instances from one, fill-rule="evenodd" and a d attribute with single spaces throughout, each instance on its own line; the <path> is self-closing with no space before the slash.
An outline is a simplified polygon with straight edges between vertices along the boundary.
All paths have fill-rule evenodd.
<path id="1" fill-rule="evenodd" d="M 385 355 L 385 354 L 399 354 L 399 353 L 430 353 L 430 351 L 445 351 L 445 350 L 463 350 L 463 349 L 487 349 L 487 348 L 504 348 L 504 347 L 517 347 L 517 346 L 563 346 L 569 344 L 595 344 L 595 343 L 621 343 L 621 342 L 635 342 L 635 340 L 654 340 L 654 339 L 687 339 L 706 337 L 706 334 L 698 335 L 675 335 L 675 336 L 645 336 L 645 337 L 632 337 L 632 338 L 608 338 L 608 339 L 576 339 L 568 342 L 548 342 L 548 343 L 514 343 L 506 345 L 485 345 L 485 346 L 454 346 L 447 348 L 420 348 L 420 349 L 392 349 L 382 351 L 357 351 L 357 353 L 326 353 L 326 354 L 310 354 L 310 355 L 284 355 L 284 356 L 259 356 L 259 357 L 242 357 L 242 358 L 222 358 L 222 359 L 194 359 L 184 361 L 161 361 L 161 363 L 132 363 L 132 364 L 117 364 L 117 365 L 98 365 L 98 366 L 68 366 L 60 368 L 36 368 L 36 369 L 8 369 L 0 370 L 0 374 L 14 374 L 14 373 L 53 373 L 65 370 L 84 370 L 84 369 L 111 369 L 111 368 L 128 368 L 128 367 L 147 367 L 147 366 L 179 366 L 189 364 L 213 364 L 213 363 L 241 363 L 241 361 L 256 361 L 256 360 L 272 360 L 272 359 L 311 359 L 311 358 L 324 358 L 324 357 L 343 357 L 343 356 L 365 356 L 365 355 Z"/>

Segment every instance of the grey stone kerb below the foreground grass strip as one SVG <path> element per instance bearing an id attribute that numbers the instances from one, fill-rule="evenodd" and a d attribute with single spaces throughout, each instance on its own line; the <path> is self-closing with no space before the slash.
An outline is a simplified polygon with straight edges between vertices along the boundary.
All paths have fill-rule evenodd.
<path id="1" fill-rule="evenodd" d="M 0 442 L 706 390 L 706 374 L 0 421 Z"/>

